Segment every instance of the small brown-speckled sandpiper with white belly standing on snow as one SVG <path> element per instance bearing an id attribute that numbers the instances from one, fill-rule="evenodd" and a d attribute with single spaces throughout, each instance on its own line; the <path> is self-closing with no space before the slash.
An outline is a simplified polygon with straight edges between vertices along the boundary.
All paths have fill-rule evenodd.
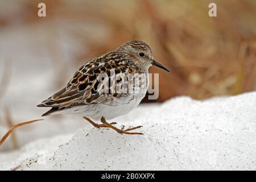
<path id="1" fill-rule="evenodd" d="M 113 126 L 115 123 L 108 123 L 106 120 L 127 114 L 139 105 L 145 97 L 149 79 L 146 77 L 139 84 L 131 84 L 130 81 L 134 80 L 128 75 L 148 75 L 148 68 L 151 65 L 170 72 L 153 59 L 151 48 L 146 43 L 139 40 L 126 42 L 114 51 L 96 57 L 83 65 L 64 89 L 53 94 L 38 107 L 51 107 L 42 116 L 55 113 L 77 114 L 84 117 L 94 127 L 109 127 L 120 134 L 142 134 L 129 132 L 142 126 L 123 130 Z M 100 79 L 104 74 L 114 77 L 114 80 L 106 84 L 109 78 Z M 129 90 L 139 88 L 139 92 L 117 92 L 116 88 L 121 90 L 125 87 Z M 111 90 L 115 92 L 109 92 Z M 99 120 L 101 124 L 94 122 Z"/>

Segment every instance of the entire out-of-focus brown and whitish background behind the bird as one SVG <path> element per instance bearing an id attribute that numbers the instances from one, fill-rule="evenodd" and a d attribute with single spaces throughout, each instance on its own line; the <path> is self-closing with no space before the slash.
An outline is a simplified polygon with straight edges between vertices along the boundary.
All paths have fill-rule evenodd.
<path id="1" fill-rule="evenodd" d="M 38 17 L 39 2 L 46 3 L 46 17 Z M 210 2 L 217 17 L 208 15 Z M 150 68 L 160 73 L 158 102 L 256 88 L 254 0 L 0 1 L 0 126 L 39 118 L 46 110 L 36 104 L 63 88 L 76 69 L 132 39 L 147 42 L 154 58 L 172 69 Z M 81 118 L 46 120 L 34 133 L 20 129 L 19 143 L 12 135 L 6 148 L 84 126 Z"/>

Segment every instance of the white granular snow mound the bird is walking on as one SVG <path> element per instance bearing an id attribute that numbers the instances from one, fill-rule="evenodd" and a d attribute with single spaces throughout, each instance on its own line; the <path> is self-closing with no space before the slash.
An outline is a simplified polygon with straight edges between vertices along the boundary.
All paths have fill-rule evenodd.
<path id="1" fill-rule="evenodd" d="M 143 125 L 137 131 L 144 135 L 121 135 L 88 124 L 73 134 L 37 139 L 18 151 L 1 152 L 0 169 L 255 170 L 255 101 L 256 92 L 250 92 L 205 101 L 176 97 L 159 105 L 142 105 L 113 121 L 118 127 Z"/>

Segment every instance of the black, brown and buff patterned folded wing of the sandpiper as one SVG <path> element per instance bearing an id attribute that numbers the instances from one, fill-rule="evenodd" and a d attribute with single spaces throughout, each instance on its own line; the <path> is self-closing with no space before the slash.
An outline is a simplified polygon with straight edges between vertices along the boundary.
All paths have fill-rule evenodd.
<path id="1" fill-rule="evenodd" d="M 118 62 L 116 59 L 118 59 Z M 107 93 L 104 92 L 104 89 L 106 89 L 106 85 L 104 85 L 106 84 L 106 80 L 102 81 L 99 78 L 101 73 L 111 77 L 111 71 L 114 71 L 115 76 L 120 73 L 135 71 L 135 69 L 127 68 L 126 64 L 127 61 L 121 60 L 120 57 L 113 55 L 113 53 L 89 61 L 75 73 L 64 89 L 53 94 L 53 96 L 38 106 L 53 107 L 53 112 L 75 105 L 96 103 L 114 105 L 118 104 L 118 98 L 130 100 L 131 98 L 127 93 L 111 93 L 111 90 Z M 98 90 L 98 88 L 101 89 Z"/>

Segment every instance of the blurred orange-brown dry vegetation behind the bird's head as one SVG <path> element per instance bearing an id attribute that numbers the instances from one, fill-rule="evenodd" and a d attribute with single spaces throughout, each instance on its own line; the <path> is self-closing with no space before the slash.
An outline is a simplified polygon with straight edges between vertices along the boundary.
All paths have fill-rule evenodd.
<path id="1" fill-rule="evenodd" d="M 46 3 L 46 18 L 37 16 L 39 2 Z M 63 64 L 61 72 L 69 67 L 56 55 L 60 52 L 58 28 L 68 31 L 80 46 L 70 62 L 77 68 L 127 40 L 143 40 L 155 59 L 172 69 L 171 73 L 150 69 L 160 73 L 158 101 L 255 90 L 256 1 L 214 1 L 217 17 L 208 16 L 210 2 L 2 1 L 0 28 L 17 22 L 22 26 L 44 23 L 52 60 Z M 68 81 L 67 77 L 57 79 L 58 87 Z"/>

